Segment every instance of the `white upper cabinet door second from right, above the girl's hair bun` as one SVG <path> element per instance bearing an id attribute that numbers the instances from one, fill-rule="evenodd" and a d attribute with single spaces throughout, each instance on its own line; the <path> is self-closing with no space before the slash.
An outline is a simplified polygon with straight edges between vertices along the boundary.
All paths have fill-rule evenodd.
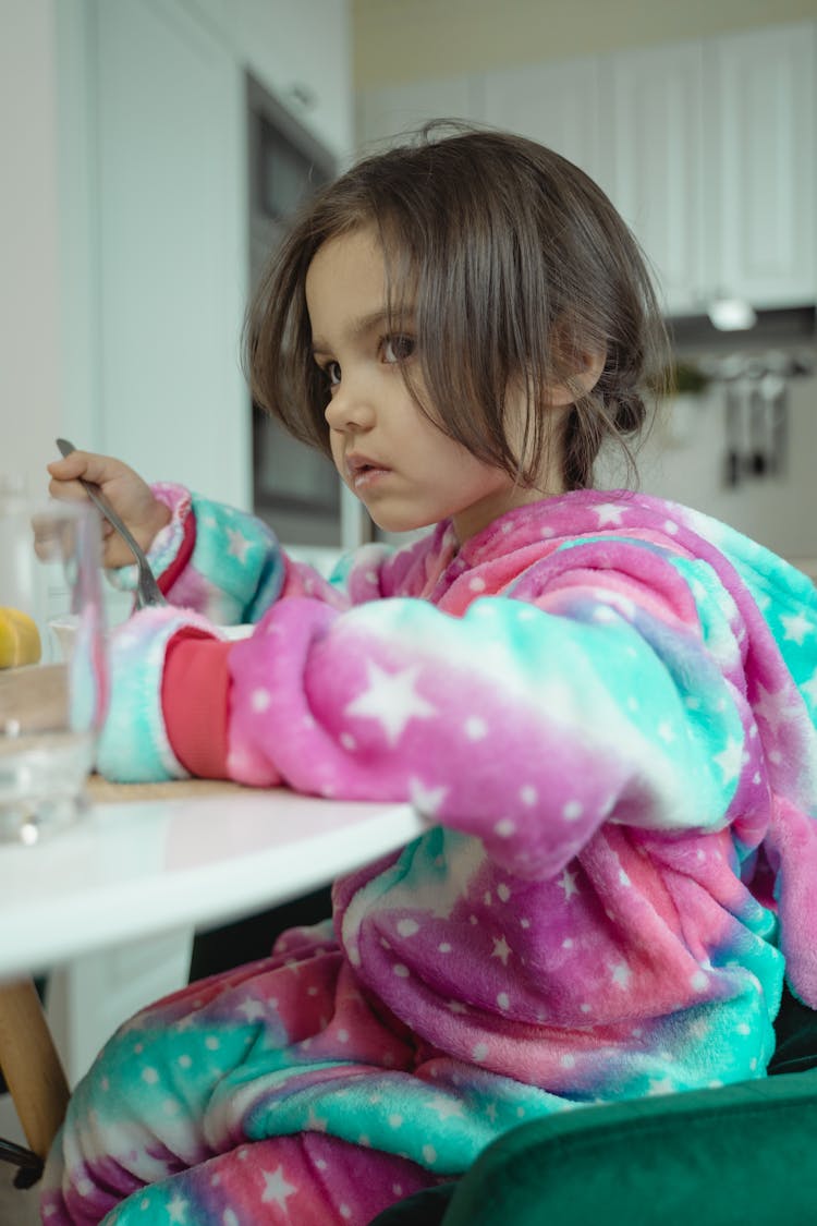
<path id="1" fill-rule="evenodd" d="M 653 265 L 668 313 L 699 310 L 701 45 L 623 51 L 606 59 L 605 72 L 610 196 Z"/>

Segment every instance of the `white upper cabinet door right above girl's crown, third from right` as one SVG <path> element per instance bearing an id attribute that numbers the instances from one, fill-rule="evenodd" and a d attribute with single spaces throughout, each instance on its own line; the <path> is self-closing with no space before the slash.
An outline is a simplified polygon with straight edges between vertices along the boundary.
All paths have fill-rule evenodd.
<path id="1" fill-rule="evenodd" d="M 546 145 L 605 186 L 597 59 L 486 72 L 484 91 L 486 123 Z"/>

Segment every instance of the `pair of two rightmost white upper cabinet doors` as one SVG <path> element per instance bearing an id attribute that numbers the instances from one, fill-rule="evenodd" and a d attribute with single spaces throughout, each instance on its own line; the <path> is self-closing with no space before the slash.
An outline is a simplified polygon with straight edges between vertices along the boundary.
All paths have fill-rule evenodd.
<path id="1" fill-rule="evenodd" d="M 815 300 L 815 29 L 608 58 L 609 189 L 671 314 Z"/>

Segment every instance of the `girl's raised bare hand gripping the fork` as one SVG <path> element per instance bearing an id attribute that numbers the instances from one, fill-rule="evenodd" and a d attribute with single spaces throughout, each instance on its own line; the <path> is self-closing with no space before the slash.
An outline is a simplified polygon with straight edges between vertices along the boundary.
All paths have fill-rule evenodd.
<path id="1" fill-rule="evenodd" d="M 157 532 L 170 522 L 169 509 L 153 497 L 147 482 L 142 481 L 140 474 L 129 468 L 121 460 L 94 455 L 92 451 L 72 451 L 64 460 L 54 460 L 53 463 L 49 463 L 48 471 L 51 474 L 49 493 L 64 501 L 70 503 L 88 497 L 80 484 L 78 477 L 93 481 L 99 485 L 113 509 L 119 512 L 146 552 Z M 103 565 L 130 566 L 132 564 L 134 554 L 107 520 L 103 520 L 102 538 Z"/>

